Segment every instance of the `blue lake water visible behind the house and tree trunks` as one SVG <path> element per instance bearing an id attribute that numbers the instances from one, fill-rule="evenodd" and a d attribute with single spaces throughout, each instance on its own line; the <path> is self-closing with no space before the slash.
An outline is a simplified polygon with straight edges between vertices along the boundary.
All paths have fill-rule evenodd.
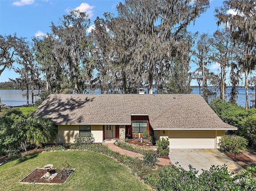
<path id="1" fill-rule="evenodd" d="M 227 88 L 227 93 L 230 93 L 231 88 Z M 238 88 L 239 94 L 238 94 L 238 105 L 245 106 L 245 91 L 244 88 Z M 254 91 L 250 90 L 248 91 L 248 98 L 254 99 L 254 97 L 251 96 L 251 94 L 254 94 Z M 26 91 L 21 90 L 1 90 L 0 89 L 0 97 L 3 104 L 6 104 L 8 106 L 20 106 L 26 104 L 26 96 L 22 96 L 26 93 Z M 37 94 L 38 91 L 34 91 L 34 94 Z M 100 93 L 97 91 L 96 93 Z M 192 91 L 192 94 L 199 94 L 199 88 L 194 88 Z M 218 93 L 218 96 L 220 94 Z M 229 98 L 227 97 L 227 100 Z M 34 97 L 34 101 L 36 101 L 36 98 Z M 31 91 L 29 91 L 29 103 L 31 102 Z M 249 101 L 250 106 L 250 101 Z"/>

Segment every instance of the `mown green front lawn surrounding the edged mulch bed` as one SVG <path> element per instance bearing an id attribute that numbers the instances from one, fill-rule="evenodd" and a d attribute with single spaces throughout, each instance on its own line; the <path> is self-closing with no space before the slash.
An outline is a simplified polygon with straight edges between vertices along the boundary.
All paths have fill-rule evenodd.
<path id="1" fill-rule="evenodd" d="M 67 162 L 76 170 L 63 185 L 18 183 L 36 167 L 51 163 L 60 167 Z M 0 166 L 1 191 L 149 191 L 129 169 L 102 154 L 88 151 L 44 152 L 9 161 Z"/>

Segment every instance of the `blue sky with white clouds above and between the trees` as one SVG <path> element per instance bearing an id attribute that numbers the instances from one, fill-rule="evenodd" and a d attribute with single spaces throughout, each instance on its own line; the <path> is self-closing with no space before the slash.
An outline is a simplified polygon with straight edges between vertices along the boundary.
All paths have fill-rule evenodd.
<path id="1" fill-rule="evenodd" d="M 116 12 L 116 5 L 122 0 L 0 0 L 0 34 L 16 33 L 18 37 L 31 40 L 34 36 L 50 33 L 51 22 L 58 23 L 59 18 L 68 14 L 69 10 L 80 9 L 90 15 L 91 25 L 97 16 L 104 12 Z M 210 0 L 210 8 L 195 25 L 188 30 L 200 33 L 214 33 L 217 30 L 214 9 L 222 6 L 223 0 Z M 196 64 L 191 63 L 192 71 Z M 210 66 L 217 72 L 218 65 Z M 6 69 L 0 76 L 0 82 L 18 77 L 12 70 Z M 191 85 L 197 85 L 194 81 Z"/>

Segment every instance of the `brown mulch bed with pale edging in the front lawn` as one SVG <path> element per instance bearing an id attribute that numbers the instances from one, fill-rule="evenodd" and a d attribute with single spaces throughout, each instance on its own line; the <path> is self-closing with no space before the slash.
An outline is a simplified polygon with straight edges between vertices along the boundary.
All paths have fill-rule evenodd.
<path id="1" fill-rule="evenodd" d="M 51 169 L 51 171 L 55 171 L 56 169 Z M 36 168 L 29 175 L 24 177 L 20 182 L 21 183 L 30 183 L 30 184 L 64 184 L 66 180 L 72 175 L 75 169 L 72 169 L 70 174 L 66 177 L 60 178 L 60 174 L 57 174 L 53 179 L 48 180 L 47 178 L 41 178 L 46 172 L 46 169 Z"/>

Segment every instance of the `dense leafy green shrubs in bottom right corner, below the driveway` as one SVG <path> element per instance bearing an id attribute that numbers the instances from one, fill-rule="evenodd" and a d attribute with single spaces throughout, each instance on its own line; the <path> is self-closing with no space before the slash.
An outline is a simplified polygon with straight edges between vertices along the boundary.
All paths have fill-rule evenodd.
<path id="1" fill-rule="evenodd" d="M 158 191 L 242 191 L 255 190 L 256 179 L 248 171 L 239 175 L 228 172 L 226 165 L 210 167 L 198 175 L 198 171 L 189 165 L 186 171 L 181 166 L 162 166 L 147 175 L 145 183 Z"/>

